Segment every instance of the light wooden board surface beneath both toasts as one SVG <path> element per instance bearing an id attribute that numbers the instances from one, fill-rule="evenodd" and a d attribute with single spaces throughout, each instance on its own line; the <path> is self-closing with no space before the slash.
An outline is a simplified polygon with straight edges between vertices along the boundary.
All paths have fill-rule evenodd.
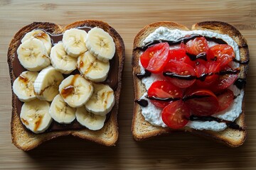
<path id="1" fill-rule="evenodd" d="M 11 144 L 11 83 L 6 62 L 9 42 L 23 26 L 50 21 L 65 26 L 102 20 L 122 36 L 126 52 L 119 106 L 119 141 L 103 147 L 75 137 L 60 137 L 22 152 Z M 132 43 L 149 23 L 175 21 L 190 28 L 199 21 L 225 21 L 237 27 L 250 49 L 244 145 L 228 148 L 188 133 L 146 142 L 132 138 Z M 256 1 L 0 1 L 0 169 L 256 169 Z"/>

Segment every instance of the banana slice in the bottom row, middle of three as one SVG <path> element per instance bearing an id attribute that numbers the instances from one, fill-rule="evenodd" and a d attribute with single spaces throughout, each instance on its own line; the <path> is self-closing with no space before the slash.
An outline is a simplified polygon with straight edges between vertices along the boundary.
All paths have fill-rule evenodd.
<path id="1" fill-rule="evenodd" d="M 58 94 L 50 104 L 50 116 L 58 123 L 70 124 L 75 120 L 75 108 L 71 108 Z"/>

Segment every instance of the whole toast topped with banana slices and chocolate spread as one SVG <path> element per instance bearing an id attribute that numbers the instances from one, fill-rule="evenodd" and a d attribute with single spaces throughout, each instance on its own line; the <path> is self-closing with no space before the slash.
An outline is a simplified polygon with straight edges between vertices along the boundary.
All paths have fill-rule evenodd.
<path id="1" fill-rule="evenodd" d="M 107 45 L 112 43 L 111 45 L 114 52 L 103 51 L 104 54 L 97 52 L 98 49 L 97 45 L 95 45 L 97 43 L 95 42 L 95 37 L 92 36 L 92 33 L 89 33 L 90 30 L 93 29 L 107 40 L 107 42 L 105 42 Z M 66 30 L 71 30 L 71 33 L 66 33 L 64 38 L 63 33 L 65 33 Z M 37 38 L 33 37 L 35 31 L 41 31 L 41 33 L 36 33 Z M 78 34 L 77 32 L 82 33 Z M 31 33 L 34 35 L 29 35 Z M 85 36 L 88 34 L 90 34 L 90 38 L 86 38 L 90 39 L 90 45 L 86 47 Z M 31 38 L 31 36 L 33 38 Z M 77 41 L 75 42 L 75 40 Z M 70 47 L 70 45 L 76 43 L 78 44 L 78 48 Z M 28 45 L 35 46 L 28 47 Z M 40 50 L 42 45 L 44 46 L 43 50 L 36 53 L 36 50 Z M 35 56 L 39 56 L 40 62 L 38 62 L 37 59 L 32 61 L 32 64 L 26 61 L 28 53 L 23 52 L 23 50 L 31 50 L 31 48 L 34 50 L 34 53 L 32 54 L 31 52 L 30 56 L 36 54 Z M 85 54 L 86 52 L 88 53 L 88 51 L 90 51 L 91 54 Z M 54 55 L 58 55 L 58 57 L 55 57 Z M 7 57 L 11 86 L 13 89 L 11 138 L 18 149 L 27 151 L 38 147 L 38 145 L 41 145 L 45 141 L 63 135 L 73 135 L 106 146 L 114 146 L 116 144 L 118 139 L 117 111 L 122 84 L 122 69 L 124 66 L 124 42 L 114 28 L 105 22 L 95 20 L 77 21 L 65 27 L 58 26 L 55 23 L 31 23 L 28 26 L 21 28 L 21 30 L 14 35 L 14 38 L 9 45 Z M 62 58 L 61 61 L 60 58 Z M 60 62 L 63 62 L 64 59 L 68 62 L 65 62 L 65 64 L 60 66 Z M 100 77 L 94 77 L 94 75 L 96 76 L 97 74 L 92 69 L 89 70 L 87 68 L 87 72 L 85 72 L 86 69 L 82 69 L 82 66 L 86 64 L 88 66 L 88 63 L 83 63 L 87 60 L 89 60 L 90 63 L 95 63 L 94 67 L 100 68 L 103 71 L 107 69 L 107 72 L 100 72 Z M 50 64 L 52 64 L 52 66 L 50 66 Z M 67 66 L 66 68 L 64 68 L 65 65 Z M 41 69 L 43 70 L 41 71 Z M 58 76 L 56 76 L 57 74 Z M 24 77 L 29 77 L 29 79 L 24 79 Z M 38 77 L 41 78 L 38 80 Z M 52 79 L 49 80 L 49 77 Z M 58 77 L 58 79 L 54 79 L 54 77 Z M 48 81 L 46 82 L 45 79 Z M 66 79 L 68 84 L 65 84 L 66 86 L 64 89 L 58 89 L 58 86 L 63 82 L 63 79 Z M 15 82 L 16 80 L 28 80 L 33 82 L 34 84 L 32 85 L 26 84 L 32 86 L 33 90 L 31 94 L 28 93 L 26 94 L 27 96 L 22 97 L 23 90 L 21 86 L 18 86 L 21 84 Z M 99 84 L 99 82 L 101 84 Z M 49 84 L 54 86 L 51 90 L 48 90 L 51 88 L 48 88 Z M 69 96 L 65 95 L 75 94 L 75 86 L 78 86 L 78 84 L 85 86 L 84 90 L 87 90 L 87 92 L 86 95 L 82 97 L 83 101 L 74 103 Z M 96 91 L 98 86 L 102 89 L 111 89 L 110 93 L 107 93 L 104 90 L 106 92 L 105 94 L 107 94 L 107 98 L 111 98 L 112 100 L 110 106 L 105 106 L 109 110 L 100 111 L 99 109 L 92 107 L 90 108 L 90 111 L 87 111 L 88 109 L 85 109 L 85 103 L 89 101 L 90 98 L 100 93 L 99 90 Z M 18 94 L 18 96 L 16 94 Z M 36 103 L 33 103 L 33 101 L 36 101 Z M 97 103 L 97 101 L 95 102 Z M 42 103 L 46 104 L 43 105 Z M 68 113 L 70 113 L 70 115 L 65 118 L 65 121 L 60 118 L 60 114 L 55 115 L 55 108 L 58 108 L 55 106 L 55 103 L 58 103 L 58 107 L 65 108 Z M 67 103 L 69 104 L 67 105 Z M 71 107 L 73 104 L 77 108 Z M 41 105 L 43 106 L 40 108 Z M 31 126 L 32 128 L 28 128 L 28 121 L 23 118 L 28 118 L 31 115 L 26 115 L 29 113 L 26 109 L 33 108 L 35 109 L 34 111 L 36 111 L 36 109 L 38 109 L 36 106 L 41 110 L 46 109 L 46 111 L 44 111 L 47 113 L 47 116 L 44 116 L 46 119 L 41 119 L 41 122 L 38 120 L 35 125 Z M 93 106 L 93 104 L 88 106 Z M 90 113 L 93 111 L 97 114 Z M 21 113 L 24 114 L 21 115 Z M 84 113 L 86 113 L 86 115 Z M 99 120 L 99 125 L 95 126 L 86 121 L 85 117 L 90 116 Z M 46 125 L 43 128 L 38 128 L 38 126 L 43 123 Z M 63 123 L 65 125 L 63 125 Z M 89 124 L 90 128 L 85 128 Z"/>

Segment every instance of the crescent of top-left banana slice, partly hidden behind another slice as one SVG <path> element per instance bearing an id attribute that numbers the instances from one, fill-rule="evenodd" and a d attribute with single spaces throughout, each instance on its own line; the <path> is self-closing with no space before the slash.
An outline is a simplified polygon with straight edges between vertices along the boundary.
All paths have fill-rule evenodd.
<path id="1" fill-rule="evenodd" d="M 21 39 L 21 42 L 23 43 L 31 38 L 41 40 L 41 42 L 43 42 L 43 45 L 46 47 L 48 55 L 50 55 L 50 48 L 52 47 L 52 43 L 50 40 L 50 36 L 46 32 L 44 32 L 43 30 L 32 30 L 31 32 L 26 33 L 26 35 Z"/>

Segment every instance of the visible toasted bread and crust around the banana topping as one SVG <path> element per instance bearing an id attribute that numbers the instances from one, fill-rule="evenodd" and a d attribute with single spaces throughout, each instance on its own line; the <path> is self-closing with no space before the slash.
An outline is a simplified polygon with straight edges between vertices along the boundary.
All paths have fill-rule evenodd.
<path id="1" fill-rule="evenodd" d="M 118 139 L 118 124 L 117 124 L 117 111 L 119 106 L 119 96 L 121 91 L 121 84 L 122 84 L 122 69 L 124 66 L 124 42 L 121 36 L 117 33 L 114 28 L 109 26 L 107 23 L 102 21 L 95 21 L 95 20 L 86 20 L 86 21 L 77 21 L 75 23 L 71 23 L 68 26 L 61 27 L 56 25 L 55 23 L 31 23 L 28 26 L 21 28 L 21 30 L 14 35 L 14 38 L 11 40 L 8 50 L 8 64 L 9 64 L 9 73 L 11 77 L 11 86 L 13 86 L 14 80 L 16 76 L 14 74 L 15 67 L 14 67 L 14 54 L 20 43 L 21 38 L 23 35 L 34 30 L 36 28 L 46 30 L 46 32 L 50 34 L 60 34 L 64 33 L 65 30 L 70 28 L 78 28 L 78 27 L 98 27 L 105 30 L 109 33 L 112 38 L 114 39 L 116 53 L 114 57 L 117 57 L 118 61 L 118 69 L 117 69 L 117 86 L 114 90 L 114 97 L 115 97 L 115 105 L 112 108 L 112 113 L 110 118 L 105 122 L 104 127 L 101 130 L 92 131 L 88 129 L 82 130 L 61 130 L 61 131 L 53 131 L 53 132 L 43 132 L 41 134 L 34 134 L 32 132 L 28 132 L 23 127 L 19 115 L 17 113 L 17 101 L 18 98 L 12 91 L 12 115 L 11 115 L 11 138 L 12 142 L 18 149 L 22 149 L 24 151 L 33 149 L 41 145 L 43 142 L 47 140 L 51 140 L 55 137 L 64 136 L 64 135 L 73 135 L 75 137 L 80 137 L 85 140 L 90 140 L 92 142 L 97 142 L 101 145 L 106 146 L 114 146 Z"/>

